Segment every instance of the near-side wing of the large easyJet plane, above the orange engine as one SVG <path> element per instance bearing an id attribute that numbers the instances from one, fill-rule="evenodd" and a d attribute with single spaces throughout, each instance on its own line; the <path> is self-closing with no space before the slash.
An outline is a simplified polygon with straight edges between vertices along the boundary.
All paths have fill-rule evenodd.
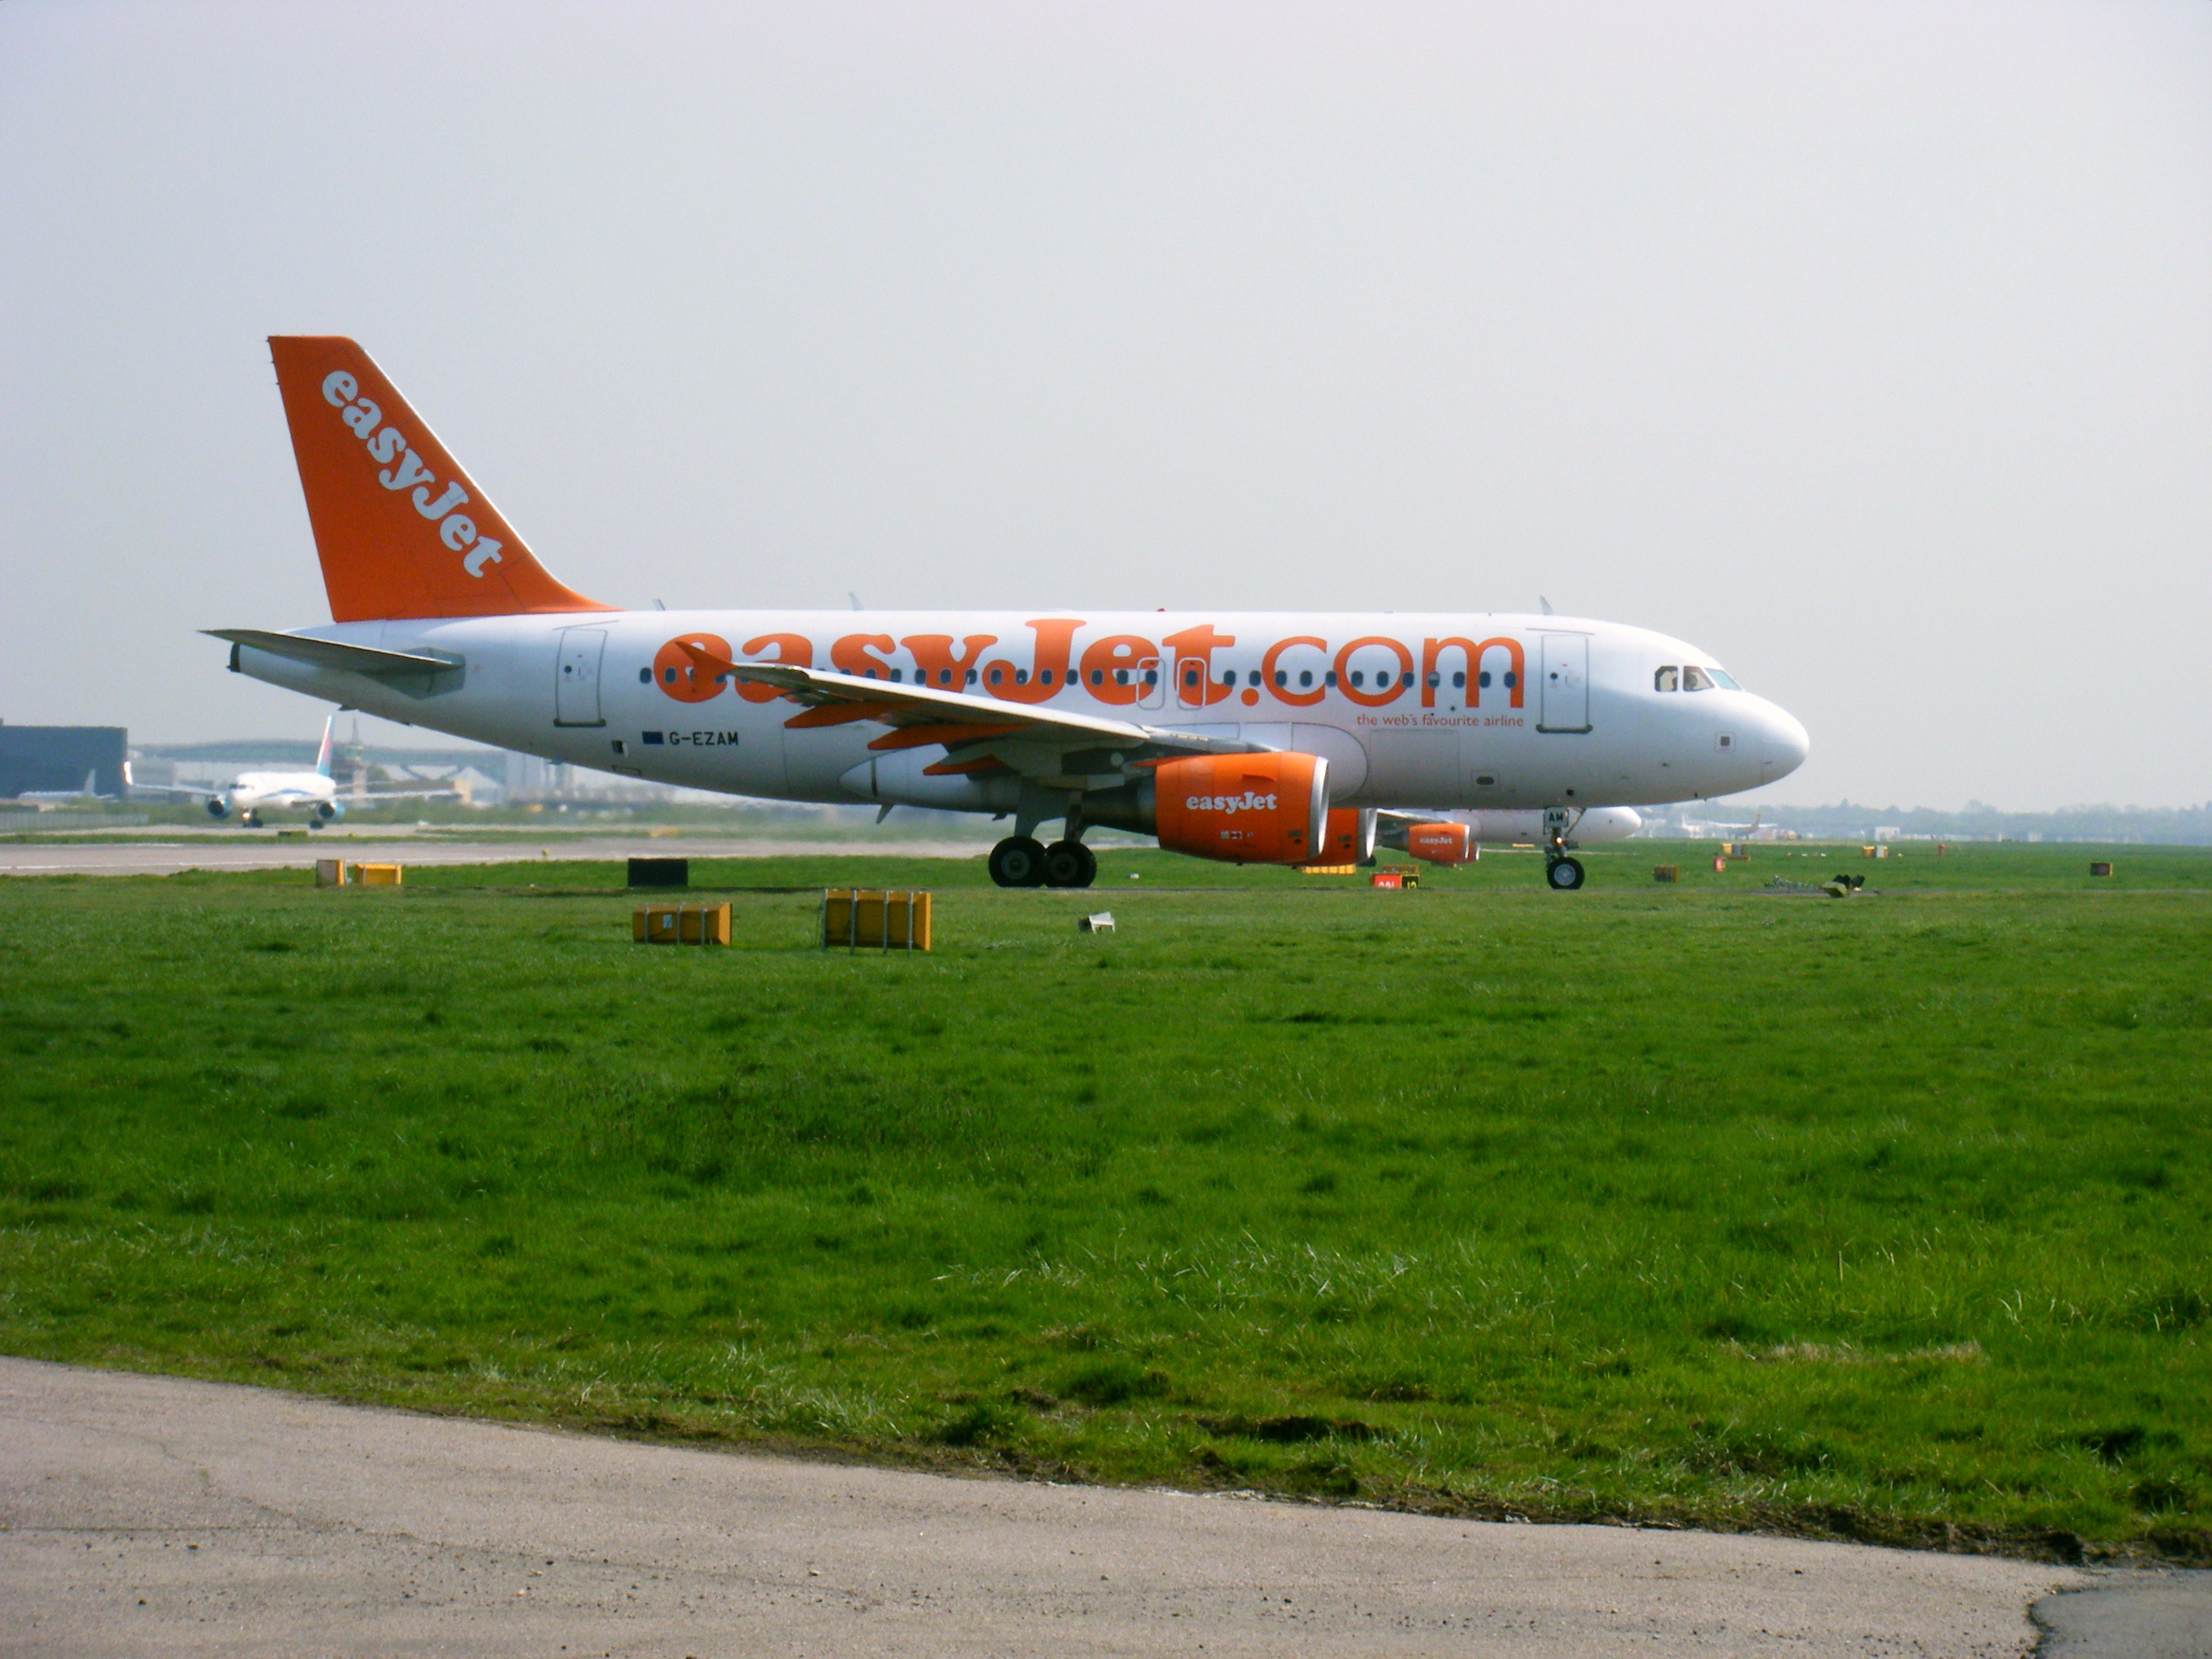
<path id="1" fill-rule="evenodd" d="M 936 686 L 898 686 L 825 668 L 790 664 L 737 664 L 690 639 L 677 641 L 708 675 L 728 675 L 752 686 L 774 686 L 801 710 L 790 728 L 849 726 L 872 721 L 887 728 L 872 750 L 918 750 L 945 745 L 945 759 L 922 768 L 931 776 L 1009 768 L 1022 776 L 1077 783 L 1124 768 L 1172 761 L 1186 754 L 1256 754 L 1265 743 L 1179 732 L 1172 726 L 1068 714 L 1037 703 L 973 697 Z"/>

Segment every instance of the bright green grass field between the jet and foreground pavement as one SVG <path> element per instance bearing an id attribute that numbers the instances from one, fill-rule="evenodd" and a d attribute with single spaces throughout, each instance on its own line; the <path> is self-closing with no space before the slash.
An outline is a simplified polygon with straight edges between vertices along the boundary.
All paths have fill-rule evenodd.
<path id="1" fill-rule="evenodd" d="M 2212 852 L 1710 856 L 695 865 L 730 951 L 633 947 L 608 865 L 7 880 L 0 1349 L 2212 1562 Z M 1759 891 L 1832 869 L 1885 891 Z M 825 880 L 938 889 L 938 949 L 759 891 Z"/>

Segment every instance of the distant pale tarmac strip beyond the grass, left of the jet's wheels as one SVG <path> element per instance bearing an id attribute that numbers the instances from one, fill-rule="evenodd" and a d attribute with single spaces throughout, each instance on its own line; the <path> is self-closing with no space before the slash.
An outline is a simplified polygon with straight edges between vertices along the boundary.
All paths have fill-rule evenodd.
<path id="1" fill-rule="evenodd" d="M 276 841 L 252 832 L 197 832 L 186 841 L 0 843 L 0 876 L 175 876 L 184 869 L 314 869 L 316 858 L 389 858 L 403 865 L 507 865 L 522 858 L 982 858 L 978 841 L 796 841 L 754 836 L 513 836 L 449 841 L 442 836 L 314 834 Z"/>

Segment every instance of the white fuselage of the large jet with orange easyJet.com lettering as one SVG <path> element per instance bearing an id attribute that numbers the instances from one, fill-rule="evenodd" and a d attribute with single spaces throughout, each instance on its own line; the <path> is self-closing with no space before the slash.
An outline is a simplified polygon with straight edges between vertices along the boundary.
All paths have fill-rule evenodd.
<path id="1" fill-rule="evenodd" d="M 460 672 L 387 684 L 252 646 L 237 668 L 453 737 L 790 801 L 1004 812 L 1015 785 L 927 776 L 942 750 L 878 754 L 869 739 L 883 728 L 867 721 L 792 730 L 794 703 L 768 686 L 686 681 L 670 641 L 1314 752 L 1329 761 L 1336 805 L 1697 801 L 1772 783 L 1807 750 L 1796 719 L 1725 675 L 1705 690 L 1659 690 L 1663 670 L 1674 684 L 1688 666 L 1717 672 L 1710 653 L 1553 615 L 613 611 L 303 633 L 440 655 Z M 234 790 L 261 776 L 272 774 Z M 330 790 L 312 774 L 274 776 Z"/>

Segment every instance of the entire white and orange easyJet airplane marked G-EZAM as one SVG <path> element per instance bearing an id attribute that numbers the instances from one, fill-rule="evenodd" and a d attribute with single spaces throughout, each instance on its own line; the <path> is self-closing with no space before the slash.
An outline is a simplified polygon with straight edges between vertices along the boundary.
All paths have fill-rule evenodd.
<path id="1" fill-rule="evenodd" d="M 1712 653 L 1577 617 L 617 611 L 546 573 L 358 345 L 270 347 L 332 626 L 215 628 L 232 670 L 635 779 L 1011 816 L 1002 887 L 1088 887 L 1095 825 L 1349 863 L 1376 810 L 1416 807 L 1440 860 L 1471 856 L 1478 814 L 1537 814 L 1571 889 L 1586 812 L 1805 759 Z"/>

